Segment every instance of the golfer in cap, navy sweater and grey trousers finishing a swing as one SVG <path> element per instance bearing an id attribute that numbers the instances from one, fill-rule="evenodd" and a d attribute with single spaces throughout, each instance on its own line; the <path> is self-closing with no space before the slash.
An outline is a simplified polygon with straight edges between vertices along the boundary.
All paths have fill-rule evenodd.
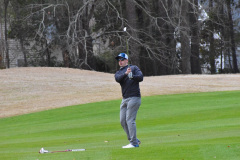
<path id="1" fill-rule="evenodd" d="M 120 69 L 115 73 L 115 80 L 121 85 L 123 97 L 120 105 L 120 122 L 130 142 L 122 148 L 135 148 L 141 143 L 137 139 L 135 120 L 141 105 L 139 82 L 143 81 L 143 74 L 137 66 L 128 65 L 127 54 L 120 53 L 116 60 Z"/>

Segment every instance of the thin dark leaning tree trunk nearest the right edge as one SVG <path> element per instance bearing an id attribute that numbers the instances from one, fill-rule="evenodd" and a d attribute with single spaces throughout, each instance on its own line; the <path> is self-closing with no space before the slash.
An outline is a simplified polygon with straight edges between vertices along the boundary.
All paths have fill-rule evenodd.
<path id="1" fill-rule="evenodd" d="M 233 20 L 232 20 L 232 12 L 231 12 L 231 4 L 230 0 L 227 0 L 227 9 L 228 9 L 228 20 L 229 20 L 229 29 L 230 29 L 230 37 L 231 37 L 231 49 L 232 49 L 232 59 L 233 59 L 233 73 L 238 73 L 238 65 L 237 65 L 237 56 L 236 56 L 236 48 L 235 48 L 235 39 L 234 39 L 234 30 L 233 30 Z"/>

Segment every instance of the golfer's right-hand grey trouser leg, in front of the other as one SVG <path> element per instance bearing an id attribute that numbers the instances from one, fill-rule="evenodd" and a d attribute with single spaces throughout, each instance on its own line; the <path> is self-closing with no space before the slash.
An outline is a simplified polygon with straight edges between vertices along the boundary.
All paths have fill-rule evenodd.
<path id="1" fill-rule="evenodd" d="M 140 97 L 132 97 L 131 100 L 128 102 L 127 106 L 127 125 L 129 130 L 130 136 L 130 143 L 132 145 L 137 145 L 137 129 L 136 129 L 136 116 L 137 111 L 141 105 L 141 98 Z"/>

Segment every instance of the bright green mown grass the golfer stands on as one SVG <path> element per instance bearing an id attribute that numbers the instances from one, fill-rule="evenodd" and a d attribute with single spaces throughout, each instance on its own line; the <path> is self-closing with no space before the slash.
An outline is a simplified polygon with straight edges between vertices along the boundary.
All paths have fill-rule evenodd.
<path id="1" fill-rule="evenodd" d="M 1 160 L 239 160 L 240 91 L 143 97 L 139 148 L 122 149 L 120 100 L 0 119 Z M 104 141 L 108 141 L 107 143 Z M 39 154 L 85 148 L 85 152 Z"/>

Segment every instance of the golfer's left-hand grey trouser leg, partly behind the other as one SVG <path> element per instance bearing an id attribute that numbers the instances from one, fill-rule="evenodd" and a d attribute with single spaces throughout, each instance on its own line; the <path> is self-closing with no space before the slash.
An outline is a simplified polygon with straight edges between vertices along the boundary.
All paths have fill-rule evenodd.
<path id="1" fill-rule="evenodd" d="M 127 100 L 123 99 L 122 103 L 120 105 L 120 123 L 121 123 L 121 126 L 123 127 L 124 131 L 127 134 L 128 140 L 130 140 L 127 121 L 126 121 L 126 113 L 127 113 Z"/>

